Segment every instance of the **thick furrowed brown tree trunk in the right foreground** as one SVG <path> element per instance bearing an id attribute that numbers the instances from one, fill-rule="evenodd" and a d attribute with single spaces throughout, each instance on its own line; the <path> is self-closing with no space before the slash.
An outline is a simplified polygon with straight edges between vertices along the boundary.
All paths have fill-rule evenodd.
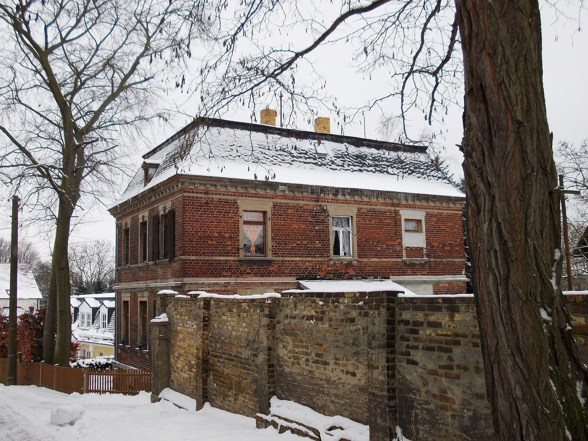
<path id="1" fill-rule="evenodd" d="M 581 403 L 588 375 L 562 292 L 554 288 L 561 276 L 559 194 L 539 5 L 456 0 L 456 6 L 465 68 L 467 228 L 496 435 L 588 440 Z"/>

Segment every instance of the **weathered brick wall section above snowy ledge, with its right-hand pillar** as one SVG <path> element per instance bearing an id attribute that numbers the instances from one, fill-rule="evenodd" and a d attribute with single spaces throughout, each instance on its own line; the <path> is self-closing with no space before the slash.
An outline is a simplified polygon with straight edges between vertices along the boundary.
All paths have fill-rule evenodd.
<path id="1" fill-rule="evenodd" d="M 387 393 L 395 381 L 395 342 L 386 340 L 392 293 L 292 295 L 278 303 L 276 396 L 372 430 L 387 426 L 396 418 Z"/>

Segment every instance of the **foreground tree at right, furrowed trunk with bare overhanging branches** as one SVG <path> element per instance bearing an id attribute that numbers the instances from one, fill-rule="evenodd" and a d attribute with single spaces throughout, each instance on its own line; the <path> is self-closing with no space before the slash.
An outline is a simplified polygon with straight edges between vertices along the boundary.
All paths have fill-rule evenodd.
<path id="1" fill-rule="evenodd" d="M 389 69 L 390 89 L 366 107 L 396 98 L 406 139 L 409 115 L 442 120 L 465 86 L 467 229 L 497 438 L 588 440 L 588 372 L 557 288 L 559 194 L 537 0 L 356 0 L 309 8 L 250 0 L 232 5 L 219 23 L 218 51 L 210 52 L 195 92 L 202 111 L 253 107 L 279 95 L 292 108 L 316 105 L 323 84 L 309 91 L 298 69 L 312 72 L 307 56 L 338 41 L 353 51 L 360 72 Z M 335 100 L 330 106 L 343 123 L 353 116 Z"/>

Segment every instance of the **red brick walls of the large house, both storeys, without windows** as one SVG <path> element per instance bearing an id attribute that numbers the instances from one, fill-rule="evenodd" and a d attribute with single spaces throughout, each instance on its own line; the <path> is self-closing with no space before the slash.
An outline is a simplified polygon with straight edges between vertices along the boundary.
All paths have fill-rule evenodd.
<path id="1" fill-rule="evenodd" d="M 269 182 L 260 185 L 218 178 L 203 181 L 176 175 L 111 209 L 117 220 L 116 359 L 122 363 L 149 367 L 149 349 L 135 349 L 138 301 L 148 301 L 151 319 L 155 315 L 155 293 L 161 289 L 250 294 L 296 288 L 296 280 L 304 279 L 463 273 L 462 198 L 413 199 L 412 195 L 409 198 L 402 193 L 373 191 L 349 191 L 345 195 L 338 189 L 302 186 L 283 190 Z M 171 209 L 175 218 L 174 252 L 172 259 L 155 260 L 152 223 L 154 216 L 162 215 L 162 207 L 168 212 Z M 266 212 L 268 255 L 263 258 L 252 259 L 242 254 L 243 209 Z M 403 258 L 400 210 L 426 213 L 425 259 L 411 258 L 409 252 Z M 355 236 L 350 258 L 332 256 L 333 215 L 352 218 Z M 142 220 L 148 222 L 148 262 L 140 263 Z M 125 228 L 130 236 L 129 265 L 123 265 Z M 417 251 L 417 256 L 423 256 L 422 249 Z M 465 292 L 465 282 L 436 283 L 433 291 Z M 120 341 L 123 299 L 129 301 L 129 345 Z"/>

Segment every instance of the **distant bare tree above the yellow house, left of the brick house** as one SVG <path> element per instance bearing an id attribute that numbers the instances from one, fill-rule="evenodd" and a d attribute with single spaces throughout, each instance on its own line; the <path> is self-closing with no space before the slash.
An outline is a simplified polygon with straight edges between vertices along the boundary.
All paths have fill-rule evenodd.
<path id="1" fill-rule="evenodd" d="M 115 280 L 115 252 L 109 240 L 71 243 L 69 270 L 76 293 L 105 292 Z"/>

